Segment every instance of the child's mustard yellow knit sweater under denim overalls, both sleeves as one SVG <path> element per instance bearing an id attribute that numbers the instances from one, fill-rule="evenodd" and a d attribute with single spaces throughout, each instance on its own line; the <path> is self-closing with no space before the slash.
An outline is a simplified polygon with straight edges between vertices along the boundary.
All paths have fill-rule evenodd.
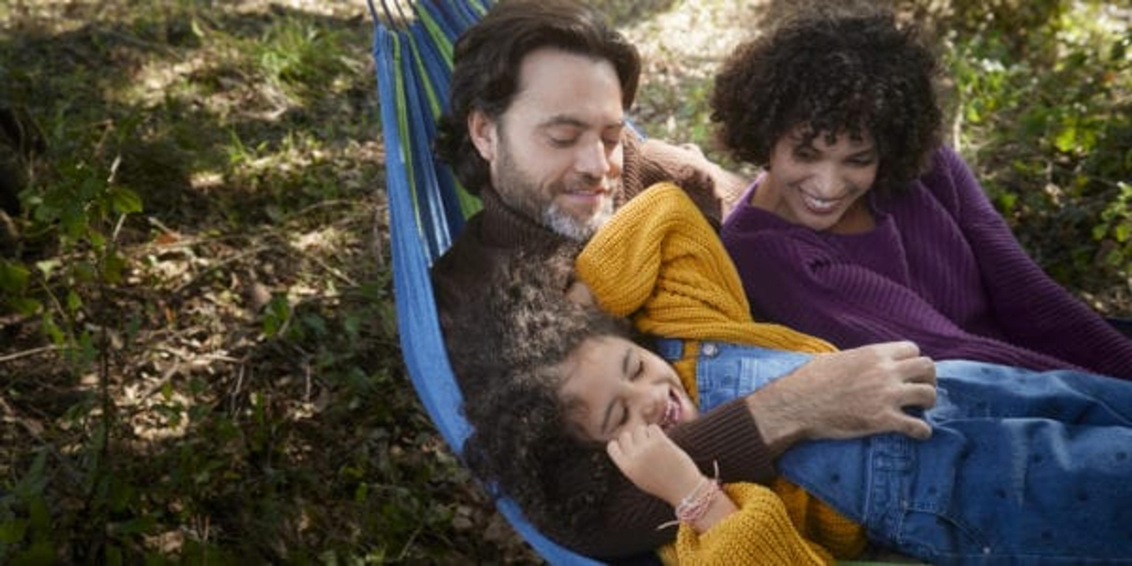
<path id="1" fill-rule="evenodd" d="M 603 309 L 632 316 L 642 332 L 683 338 L 674 366 L 697 397 L 695 361 L 702 340 L 801 352 L 832 352 L 830 343 L 784 326 L 756 323 L 739 274 L 711 225 L 670 183 L 650 187 L 614 215 L 578 256 L 578 278 Z M 864 530 L 783 479 L 767 489 L 727 486 L 739 512 L 710 531 L 680 525 L 679 564 L 832 564 L 865 547 Z"/>

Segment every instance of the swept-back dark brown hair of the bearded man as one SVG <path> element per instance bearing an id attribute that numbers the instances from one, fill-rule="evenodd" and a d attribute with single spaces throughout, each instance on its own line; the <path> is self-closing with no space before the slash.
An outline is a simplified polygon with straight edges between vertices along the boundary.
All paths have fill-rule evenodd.
<path id="1" fill-rule="evenodd" d="M 503 0 L 456 41 L 448 112 L 441 117 L 436 152 L 473 195 L 490 181 L 488 163 L 472 145 L 473 110 L 498 119 L 518 92 L 520 66 L 531 52 L 554 48 L 608 60 L 621 86 L 621 106 L 636 97 L 641 58 L 604 17 L 574 0 Z"/>

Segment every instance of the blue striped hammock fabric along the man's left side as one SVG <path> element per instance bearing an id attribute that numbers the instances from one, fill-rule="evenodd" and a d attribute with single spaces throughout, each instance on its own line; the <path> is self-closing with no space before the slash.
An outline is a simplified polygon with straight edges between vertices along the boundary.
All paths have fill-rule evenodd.
<path id="1" fill-rule="evenodd" d="M 393 14 L 384 1 L 379 15 L 370 2 L 401 352 L 424 410 L 457 454 L 471 429 L 460 412 L 462 397 L 444 349 L 429 266 L 478 201 L 435 161 L 430 144 L 446 104 L 452 44 L 484 14 L 489 1 L 418 0 L 411 18 Z M 394 8 L 400 11 L 400 5 Z M 599 564 L 543 537 L 511 499 L 497 497 L 496 506 L 547 561 Z"/>

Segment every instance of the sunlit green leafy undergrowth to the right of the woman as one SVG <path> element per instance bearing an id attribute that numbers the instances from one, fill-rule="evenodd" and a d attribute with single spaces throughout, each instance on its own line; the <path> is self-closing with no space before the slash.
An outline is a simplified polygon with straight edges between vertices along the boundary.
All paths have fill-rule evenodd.
<path id="1" fill-rule="evenodd" d="M 1030 11 L 961 5 L 979 25 L 952 36 L 955 137 L 1023 246 L 1064 283 L 1127 292 L 1124 182 L 1132 175 L 1132 33 L 1101 2 L 1039 2 Z M 990 10 L 993 14 L 988 14 Z M 1014 31 L 1032 29 L 1019 46 Z M 971 31 L 974 29 L 974 31 Z M 1099 251 L 1098 251 L 1099 250 Z"/>

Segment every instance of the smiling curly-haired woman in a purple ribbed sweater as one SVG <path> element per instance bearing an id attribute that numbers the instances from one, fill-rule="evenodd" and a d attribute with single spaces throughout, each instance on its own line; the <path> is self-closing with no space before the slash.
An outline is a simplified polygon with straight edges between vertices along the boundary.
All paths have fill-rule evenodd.
<path id="1" fill-rule="evenodd" d="M 940 147 L 936 69 L 891 15 L 788 20 L 729 58 L 712 119 L 766 166 L 722 230 L 753 312 L 841 348 L 1132 378 L 1132 341 L 1043 273 Z"/>

